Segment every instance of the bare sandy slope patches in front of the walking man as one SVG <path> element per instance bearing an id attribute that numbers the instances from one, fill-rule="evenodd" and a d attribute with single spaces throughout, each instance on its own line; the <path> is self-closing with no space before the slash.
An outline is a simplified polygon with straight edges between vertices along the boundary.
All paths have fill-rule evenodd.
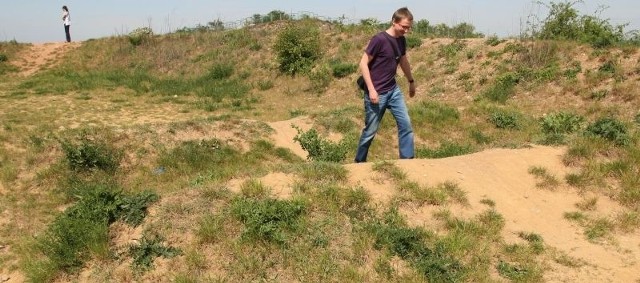
<path id="1" fill-rule="evenodd" d="M 272 135 L 277 146 L 290 148 L 306 157 L 299 144 L 293 143 L 296 132 L 291 125 L 309 128 L 310 121 L 296 118 L 271 123 L 276 132 Z M 467 192 L 469 207 L 452 205 L 447 207 L 456 217 L 473 217 L 487 209 L 480 203 L 483 199 L 495 202 L 495 209 L 505 218 L 503 236 L 507 242 L 521 241 L 519 232 L 541 235 L 546 245 L 555 248 L 578 262 L 579 268 L 570 268 L 554 261 L 545 272 L 548 282 L 638 282 L 640 280 L 640 237 L 638 235 L 616 235 L 613 241 L 592 243 L 583 235 L 583 228 L 564 218 L 564 213 L 578 211 L 576 203 L 585 196 L 567 185 L 553 190 L 536 187 L 538 180 L 529 173 L 532 167 L 542 167 L 563 180 L 571 171 L 563 165 L 564 148 L 531 146 L 524 149 L 492 149 L 484 152 L 443 159 L 397 160 L 396 165 L 408 178 L 426 186 L 443 182 L 454 182 Z M 367 189 L 374 201 L 386 202 L 395 194 L 388 182 L 381 181 L 371 163 L 347 164 L 349 180 L 353 185 Z M 291 176 L 281 173 L 262 179 L 276 191 L 287 196 Z M 443 207 L 423 206 L 405 209 L 403 213 L 411 225 L 437 230 L 433 212 Z M 615 215 L 621 211 L 616 203 L 600 197 L 597 210 L 601 215 Z"/>

